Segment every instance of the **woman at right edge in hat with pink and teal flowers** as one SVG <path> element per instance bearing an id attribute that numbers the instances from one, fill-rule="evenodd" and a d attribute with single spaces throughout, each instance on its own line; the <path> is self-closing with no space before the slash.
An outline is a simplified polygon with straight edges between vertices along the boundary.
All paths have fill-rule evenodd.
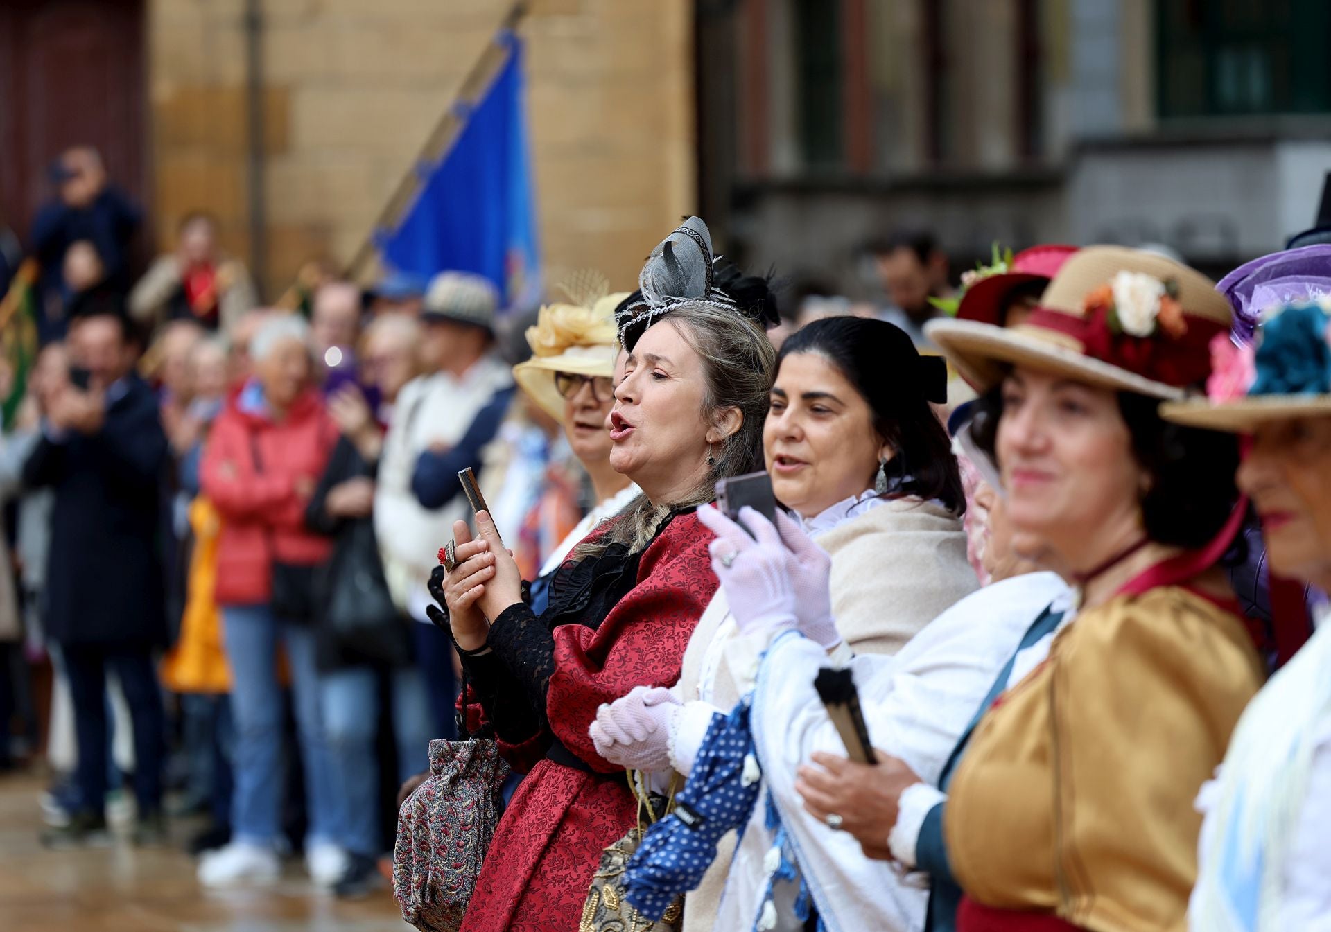
<path id="1" fill-rule="evenodd" d="M 1318 250 L 1320 255 L 1308 255 Z M 1248 278 L 1264 283 L 1246 289 L 1251 300 L 1243 302 L 1254 320 L 1264 320 L 1255 360 L 1251 354 L 1230 354 L 1210 403 L 1162 409 L 1179 424 L 1251 437 L 1238 483 L 1260 517 L 1271 570 L 1323 590 L 1331 589 L 1328 259 L 1331 246 L 1308 246 L 1255 261 L 1260 274 Z M 1284 303 L 1291 299 L 1295 303 Z M 1324 622 L 1324 604 L 1319 614 Z M 1243 713 L 1221 776 L 1206 786 L 1198 806 L 1206 822 L 1190 908 L 1194 929 L 1326 927 L 1331 915 L 1326 840 L 1331 630 L 1326 624 Z"/>

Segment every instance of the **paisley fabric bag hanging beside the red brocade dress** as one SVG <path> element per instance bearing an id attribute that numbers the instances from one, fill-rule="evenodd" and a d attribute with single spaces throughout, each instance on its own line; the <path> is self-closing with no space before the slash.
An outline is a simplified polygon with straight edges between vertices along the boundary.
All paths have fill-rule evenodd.
<path id="1" fill-rule="evenodd" d="M 398 811 L 393 895 L 421 932 L 457 932 L 503 808 L 508 763 L 488 738 L 431 741 L 430 776 Z"/>

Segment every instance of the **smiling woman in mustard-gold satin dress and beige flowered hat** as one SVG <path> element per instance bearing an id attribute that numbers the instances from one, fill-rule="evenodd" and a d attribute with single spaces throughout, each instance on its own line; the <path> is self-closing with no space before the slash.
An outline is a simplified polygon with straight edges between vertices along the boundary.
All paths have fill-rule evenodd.
<path id="1" fill-rule="evenodd" d="M 1075 624 L 994 703 L 952 779 L 962 931 L 1183 921 L 1191 798 L 1263 674 L 1215 566 L 1242 517 L 1236 447 L 1155 408 L 1205 380 L 1230 323 L 1194 270 L 1090 247 L 1016 328 L 930 326 L 997 409 L 1012 521 L 1081 589 Z"/>

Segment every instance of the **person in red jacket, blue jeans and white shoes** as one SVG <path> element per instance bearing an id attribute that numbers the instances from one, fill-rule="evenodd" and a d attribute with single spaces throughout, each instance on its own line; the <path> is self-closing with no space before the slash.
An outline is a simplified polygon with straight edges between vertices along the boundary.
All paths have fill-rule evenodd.
<path id="1" fill-rule="evenodd" d="M 319 711 L 314 630 L 314 566 L 329 557 L 326 537 L 305 526 L 305 508 L 338 429 L 310 372 L 309 326 L 276 316 L 250 340 L 254 375 L 218 415 L 204 451 L 204 495 L 222 516 L 217 544 L 217 602 L 222 608 L 236 719 L 232 842 L 206 855 L 206 887 L 277 879 L 282 794 L 282 642 L 305 774 L 309 831 L 305 859 L 315 883 L 331 884 L 346 856 L 334 843 L 335 800 Z"/>

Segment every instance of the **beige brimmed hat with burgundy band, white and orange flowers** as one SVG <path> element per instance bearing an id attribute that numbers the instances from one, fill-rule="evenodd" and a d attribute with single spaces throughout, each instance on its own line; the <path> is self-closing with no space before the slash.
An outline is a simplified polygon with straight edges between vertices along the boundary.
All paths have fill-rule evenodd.
<path id="1" fill-rule="evenodd" d="M 1087 246 L 1058 269 L 1025 323 L 936 319 L 925 334 L 980 391 L 1013 366 L 1166 400 L 1211 372 L 1229 302 L 1195 269 L 1155 253 Z"/>

